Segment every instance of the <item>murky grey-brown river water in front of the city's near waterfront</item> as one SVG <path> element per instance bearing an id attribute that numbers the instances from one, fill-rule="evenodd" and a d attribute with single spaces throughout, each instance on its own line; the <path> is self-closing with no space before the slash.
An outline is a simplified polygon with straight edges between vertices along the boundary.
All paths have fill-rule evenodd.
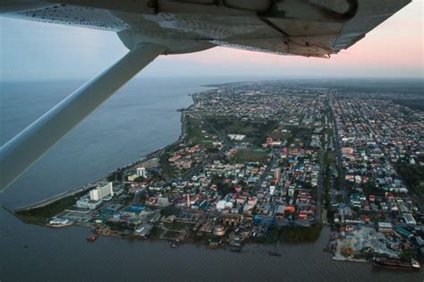
<path id="1" fill-rule="evenodd" d="M 324 227 L 317 242 L 280 244 L 281 256 L 271 256 L 275 245 L 247 244 L 242 252 L 211 250 L 205 245 L 180 244 L 173 248 L 166 241 L 123 240 L 99 237 L 86 240 L 89 229 L 78 226 L 52 229 L 21 224 L 10 214 L 0 212 L 3 252 L 13 260 L 0 259 L 0 274 L 5 280 L 296 280 L 296 281 L 416 281 L 421 272 L 405 272 L 374 268 L 370 263 L 333 261 L 322 251 L 330 230 Z M 18 243 L 19 242 L 19 243 Z M 32 260 L 39 253 L 44 260 Z M 64 255 L 64 253 L 66 255 Z M 178 263 L 176 263 L 178 261 Z M 16 263 L 25 264 L 26 271 L 14 271 Z M 104 269 L 93 273 L 93 265 Z M 119 268 L 117 271 L 116 268 Z M 46 271 L 39 271 L 46 269 Z M 187 277 L 190 273 L 190 278 Z M 242 273 L 242 274 L 241 274 Z"/>

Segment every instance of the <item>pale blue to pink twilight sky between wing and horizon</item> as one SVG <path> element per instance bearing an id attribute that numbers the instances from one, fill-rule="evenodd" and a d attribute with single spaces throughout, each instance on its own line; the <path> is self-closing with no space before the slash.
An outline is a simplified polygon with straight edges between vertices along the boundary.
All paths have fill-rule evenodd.
<path id="1" fill-rule="evenodd" d="M 330 59 L 215 47 L 160 56 L 144 77 L 424 78 L 424 0 L 415 0 Z M 0 80 L 89 79 L 128 50 L 110 31 L 0 18 Z"/>

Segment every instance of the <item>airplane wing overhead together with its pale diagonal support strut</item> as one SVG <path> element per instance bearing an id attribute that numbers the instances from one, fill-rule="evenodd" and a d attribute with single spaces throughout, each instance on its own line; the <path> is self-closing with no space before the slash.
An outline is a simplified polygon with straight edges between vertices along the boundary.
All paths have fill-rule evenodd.
<path id="1" fill-rule="evenodd" d="M 216 46 L 328 57 L 410 0 L 0 0 L 0 15 L 118 34 L 130 52 L 0 148 L 0 192 L 162 54 Z"/>

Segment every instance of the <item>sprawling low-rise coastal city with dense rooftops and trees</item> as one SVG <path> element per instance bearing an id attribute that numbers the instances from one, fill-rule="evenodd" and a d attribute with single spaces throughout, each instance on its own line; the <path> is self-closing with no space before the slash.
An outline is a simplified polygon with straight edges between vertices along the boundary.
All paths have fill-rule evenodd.
<path id="1" fill-rule="evenodd" d="M 336 261 L 420 268 L 422 110 L 395 94 L 284 81 L 213 87 L 179 109 L 178 141 L 14 214 L 88 226 L 89 241 L 276 244 L 274 256 L 280 241 L 315 241 L 330 226 L 323 248 Z"/>

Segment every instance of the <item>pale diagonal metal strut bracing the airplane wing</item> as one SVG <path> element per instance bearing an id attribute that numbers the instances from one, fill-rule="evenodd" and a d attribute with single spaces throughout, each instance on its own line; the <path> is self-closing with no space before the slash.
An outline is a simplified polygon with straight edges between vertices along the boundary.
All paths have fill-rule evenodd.
<path id="1" fill-rule="evenodd" d="M 0 147 L 0 192 L 123 84 L 165 51 L 140 44 Z"/>

